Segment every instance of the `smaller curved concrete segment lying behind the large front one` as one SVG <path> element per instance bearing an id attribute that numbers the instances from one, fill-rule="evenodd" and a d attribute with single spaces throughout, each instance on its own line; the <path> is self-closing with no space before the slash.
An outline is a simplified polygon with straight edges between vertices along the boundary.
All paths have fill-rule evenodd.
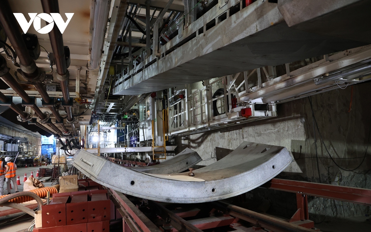
<path id="1" fill-rule="evenodd" d="M 193 167 L 202 161 L 198 153 L 190 148 L 185 148 L 171 159 L 165 160 L 160 164 L 146 167 L 127 167 L 132 170 L 152 174 L 180 173 Z"/>

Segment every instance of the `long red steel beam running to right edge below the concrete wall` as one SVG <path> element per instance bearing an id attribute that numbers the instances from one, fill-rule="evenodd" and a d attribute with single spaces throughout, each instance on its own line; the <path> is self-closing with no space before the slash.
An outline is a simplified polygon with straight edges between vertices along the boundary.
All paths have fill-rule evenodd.
<path id="1" fill-rule="evenodd" d="M 262 187 L 371 206 L 371 189 L 275 178 Z"/>

